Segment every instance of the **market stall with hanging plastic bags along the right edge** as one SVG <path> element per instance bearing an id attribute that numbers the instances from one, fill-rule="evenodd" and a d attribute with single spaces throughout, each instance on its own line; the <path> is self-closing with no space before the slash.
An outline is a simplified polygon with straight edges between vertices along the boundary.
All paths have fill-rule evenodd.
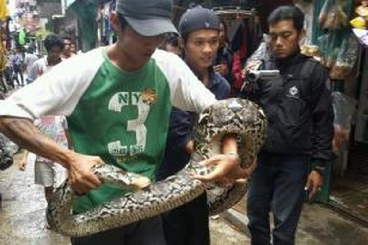
<path id="1" fill-rule="evenodd" d="M 335 111 L 334 158 L 319 201 L 368 225 L 366 2 L 315 1 L 311 44 L 330 71 Z"/>

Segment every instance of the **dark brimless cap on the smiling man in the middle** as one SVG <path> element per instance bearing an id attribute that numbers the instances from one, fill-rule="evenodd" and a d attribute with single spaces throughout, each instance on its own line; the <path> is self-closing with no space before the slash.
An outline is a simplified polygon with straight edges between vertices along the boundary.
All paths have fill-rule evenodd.
<path id="1" fill-rule="evenodd" d="M 208 8 L 197 6 L 187 10 L 181 16 L 179 22 L 179 32 L 181 36 L 201 29 L 220 30 L 220 19 L 215 12 Z"/>

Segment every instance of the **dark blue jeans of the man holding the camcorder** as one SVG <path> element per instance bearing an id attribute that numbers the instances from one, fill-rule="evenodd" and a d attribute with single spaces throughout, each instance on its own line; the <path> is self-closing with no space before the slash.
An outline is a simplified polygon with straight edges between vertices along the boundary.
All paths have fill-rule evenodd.
<path id="1" fill-rule="evenodd" d="M 270 211 L 275 226 L 272 231 L 273 244 L 295 244 L 309 162 L 308 156 L 263 153 L 258 157 L 247 201 L 252 245 L 270 244 Z"/>

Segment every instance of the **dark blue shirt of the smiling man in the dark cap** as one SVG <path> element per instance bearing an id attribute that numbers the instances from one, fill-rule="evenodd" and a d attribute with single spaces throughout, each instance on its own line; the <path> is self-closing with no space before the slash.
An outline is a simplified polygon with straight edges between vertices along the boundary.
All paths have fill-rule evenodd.
<path id="1" fill-rule="evenodd" d="M 195 73 L 194 69 L 192 71 Z M 208 89 L 215 94 L 217 100 L 223 100 L 230 96 L 230 84 L 225 78 L 209 69 Z M 195 73 L 196 74 L 196 73 Z M 199 80 L 201 77 L 196 74 Z M 185 152 L 185 146 L 191 140 L 193 126 L 198 115 L 173 107 L 170 115 L 169 132 L 167 134 L 165 156 L 156 174 L 161 180 L 177 173 L 187 165 L 190 154 Z"/>

